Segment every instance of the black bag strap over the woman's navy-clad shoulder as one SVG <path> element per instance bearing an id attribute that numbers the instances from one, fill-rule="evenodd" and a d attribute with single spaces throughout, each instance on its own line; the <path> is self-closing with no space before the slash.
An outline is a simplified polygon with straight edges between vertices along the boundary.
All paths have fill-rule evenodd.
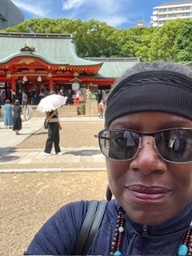
<path id="1" fill-rule="evenodd" d="M 106 200 L 100 202 L 90 202 L 90 206 L 86 213 L 86 218 L 82 223 L 82 228 L 74 246 L 74 254 L 85 255 L 87 250 L 89 250 L 94 240 L 94 235 L 98 231 L 98 228 L 102 222 L 102 218 L 106 210 L 106 205 Z"/>

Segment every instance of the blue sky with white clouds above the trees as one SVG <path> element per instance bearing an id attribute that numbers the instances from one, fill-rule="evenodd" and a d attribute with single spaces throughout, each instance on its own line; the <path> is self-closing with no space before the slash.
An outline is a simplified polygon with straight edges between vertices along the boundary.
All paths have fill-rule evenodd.
<path id="1" fill-rule="evenodd" d="M 30 18 L 80 18 L 82 22 L 91 18 L 106 22 L 117 29 L 137 26 L 144 20 L 150 26 L 153 7 L 162 2 L 177 0 L 11 0 L 25 16 Z M 182 0 L 180 0 L 182 1 Z M 184 1 L 184 0 L 183 0 Z"/>

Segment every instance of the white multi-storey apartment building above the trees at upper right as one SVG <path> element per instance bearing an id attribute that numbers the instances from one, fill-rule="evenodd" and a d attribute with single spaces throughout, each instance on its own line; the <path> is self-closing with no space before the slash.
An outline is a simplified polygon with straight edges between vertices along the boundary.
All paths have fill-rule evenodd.
<path id="1" fill-rule="evenodd" d="M 150 26 L 158 27 L 176 18 L 192 18 L 192 0 L 178 2 L 162 2 L 154 7 L 150 17 Z"/>

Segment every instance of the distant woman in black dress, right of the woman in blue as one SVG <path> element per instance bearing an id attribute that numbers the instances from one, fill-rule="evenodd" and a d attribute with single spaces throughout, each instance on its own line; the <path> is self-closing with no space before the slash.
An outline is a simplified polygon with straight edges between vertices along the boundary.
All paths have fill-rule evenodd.
<path id="1" fill-rule="evenodd" d="M 19 134 L 19 130 L 22 130 L 22 106 L 20 106 L 18 99 L 15 100 L 14 106 L 13 106 L 13 112 L 14 112 L 14 123 L 13 123 L 13 130 L 15 131 L 15 134 Z"/>

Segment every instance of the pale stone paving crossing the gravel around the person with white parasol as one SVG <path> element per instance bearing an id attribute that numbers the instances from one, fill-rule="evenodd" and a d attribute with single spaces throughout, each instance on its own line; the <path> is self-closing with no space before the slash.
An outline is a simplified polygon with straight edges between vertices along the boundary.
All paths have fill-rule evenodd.
<path id="1" fill-rule="evenodd" d="M 0 172 L 106 170 L 105 158 L 98 146 L 62 148 L 63 155 L 53 154 L 49 157 L 42 154 L 43 149 L 15 148 L 41 129 L 43 120 L 44 118 L 31 118 L 27 122 L 22 122 L 21 134 L 16 135 L 13 130 L 6 129 L 0 118 Z M 86 116 L 60 118 L 60 121 L 75 122 L 77 127 L 78 122 L 103 122 L 98 117 Z"/>

